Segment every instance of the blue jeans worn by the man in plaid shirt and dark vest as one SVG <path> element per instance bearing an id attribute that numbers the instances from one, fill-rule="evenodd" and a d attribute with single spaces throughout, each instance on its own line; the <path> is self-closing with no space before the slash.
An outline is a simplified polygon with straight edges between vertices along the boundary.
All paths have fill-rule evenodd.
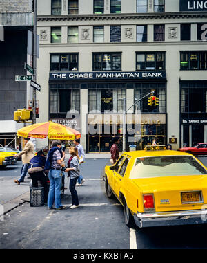
<path id="1" fill-rule="evenodd" d="M 48 208 L 52 208 L 55 201 L 55 208 L 60 208 L 61 204 L 61 170 L 51 169 L 49 172 L 50 191 L 48 194 Z"/>

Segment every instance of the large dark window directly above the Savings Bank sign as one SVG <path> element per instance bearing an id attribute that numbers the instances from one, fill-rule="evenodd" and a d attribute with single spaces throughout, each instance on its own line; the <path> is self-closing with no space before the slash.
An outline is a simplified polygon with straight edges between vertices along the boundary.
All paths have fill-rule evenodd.
<path id="1" fill-rule="evenodd" d="M 207 117 L 207 82 L 180 82 L 181 118 Z"/>

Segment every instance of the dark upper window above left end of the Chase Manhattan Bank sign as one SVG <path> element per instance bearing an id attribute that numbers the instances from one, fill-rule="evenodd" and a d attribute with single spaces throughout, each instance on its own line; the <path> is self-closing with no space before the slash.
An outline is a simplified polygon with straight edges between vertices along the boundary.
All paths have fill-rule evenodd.
<path id="1" fill-rule="evenodd" d="M 78 53 L 50 54 L 50 71 L 78 71 Z"/>

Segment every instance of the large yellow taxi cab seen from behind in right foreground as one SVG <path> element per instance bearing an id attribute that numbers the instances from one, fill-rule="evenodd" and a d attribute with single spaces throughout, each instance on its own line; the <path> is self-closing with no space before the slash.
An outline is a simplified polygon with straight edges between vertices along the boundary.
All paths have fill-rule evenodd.
<path id="1" fill-rule="evenodd" d="M 207 169 L 192 154 L 146 146 L 106 166 L 103 179 L 129 227 L 207 223 Z"/>

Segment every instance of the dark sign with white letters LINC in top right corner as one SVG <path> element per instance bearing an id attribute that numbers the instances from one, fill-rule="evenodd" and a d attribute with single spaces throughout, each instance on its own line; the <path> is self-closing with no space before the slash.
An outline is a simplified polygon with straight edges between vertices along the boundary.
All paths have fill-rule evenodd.
<path id="1" fill-rule="evenodd" d="M 206 11 L 207 1 L 205 0 L 180 0 L 179 1 L 180 11 Z"/>

